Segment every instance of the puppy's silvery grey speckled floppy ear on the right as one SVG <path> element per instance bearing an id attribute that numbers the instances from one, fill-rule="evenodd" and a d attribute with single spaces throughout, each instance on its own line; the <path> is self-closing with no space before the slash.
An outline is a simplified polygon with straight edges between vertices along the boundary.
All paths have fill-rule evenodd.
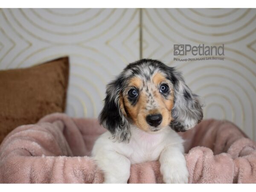
<path id="1" fill-rule="evenodd" d="M 172 108 L 171 128 L 177 132 L 193 128 L 203 119 L 199 97 L 192 93 L 181 73 L 169 67 L 169 78 L 174 85 L 174 106 Z"/>

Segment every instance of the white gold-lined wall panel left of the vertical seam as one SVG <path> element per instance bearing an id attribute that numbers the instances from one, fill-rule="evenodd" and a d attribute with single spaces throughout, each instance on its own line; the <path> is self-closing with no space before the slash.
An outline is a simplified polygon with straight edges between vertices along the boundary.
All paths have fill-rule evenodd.
<path id="1" fill-rule="evenodd" d="M 139 59 L 138 9 L 1 9 L 0 23 L 0 69 L 70 56 L 70 116 L 98 116 L 105 85 Z"/>

